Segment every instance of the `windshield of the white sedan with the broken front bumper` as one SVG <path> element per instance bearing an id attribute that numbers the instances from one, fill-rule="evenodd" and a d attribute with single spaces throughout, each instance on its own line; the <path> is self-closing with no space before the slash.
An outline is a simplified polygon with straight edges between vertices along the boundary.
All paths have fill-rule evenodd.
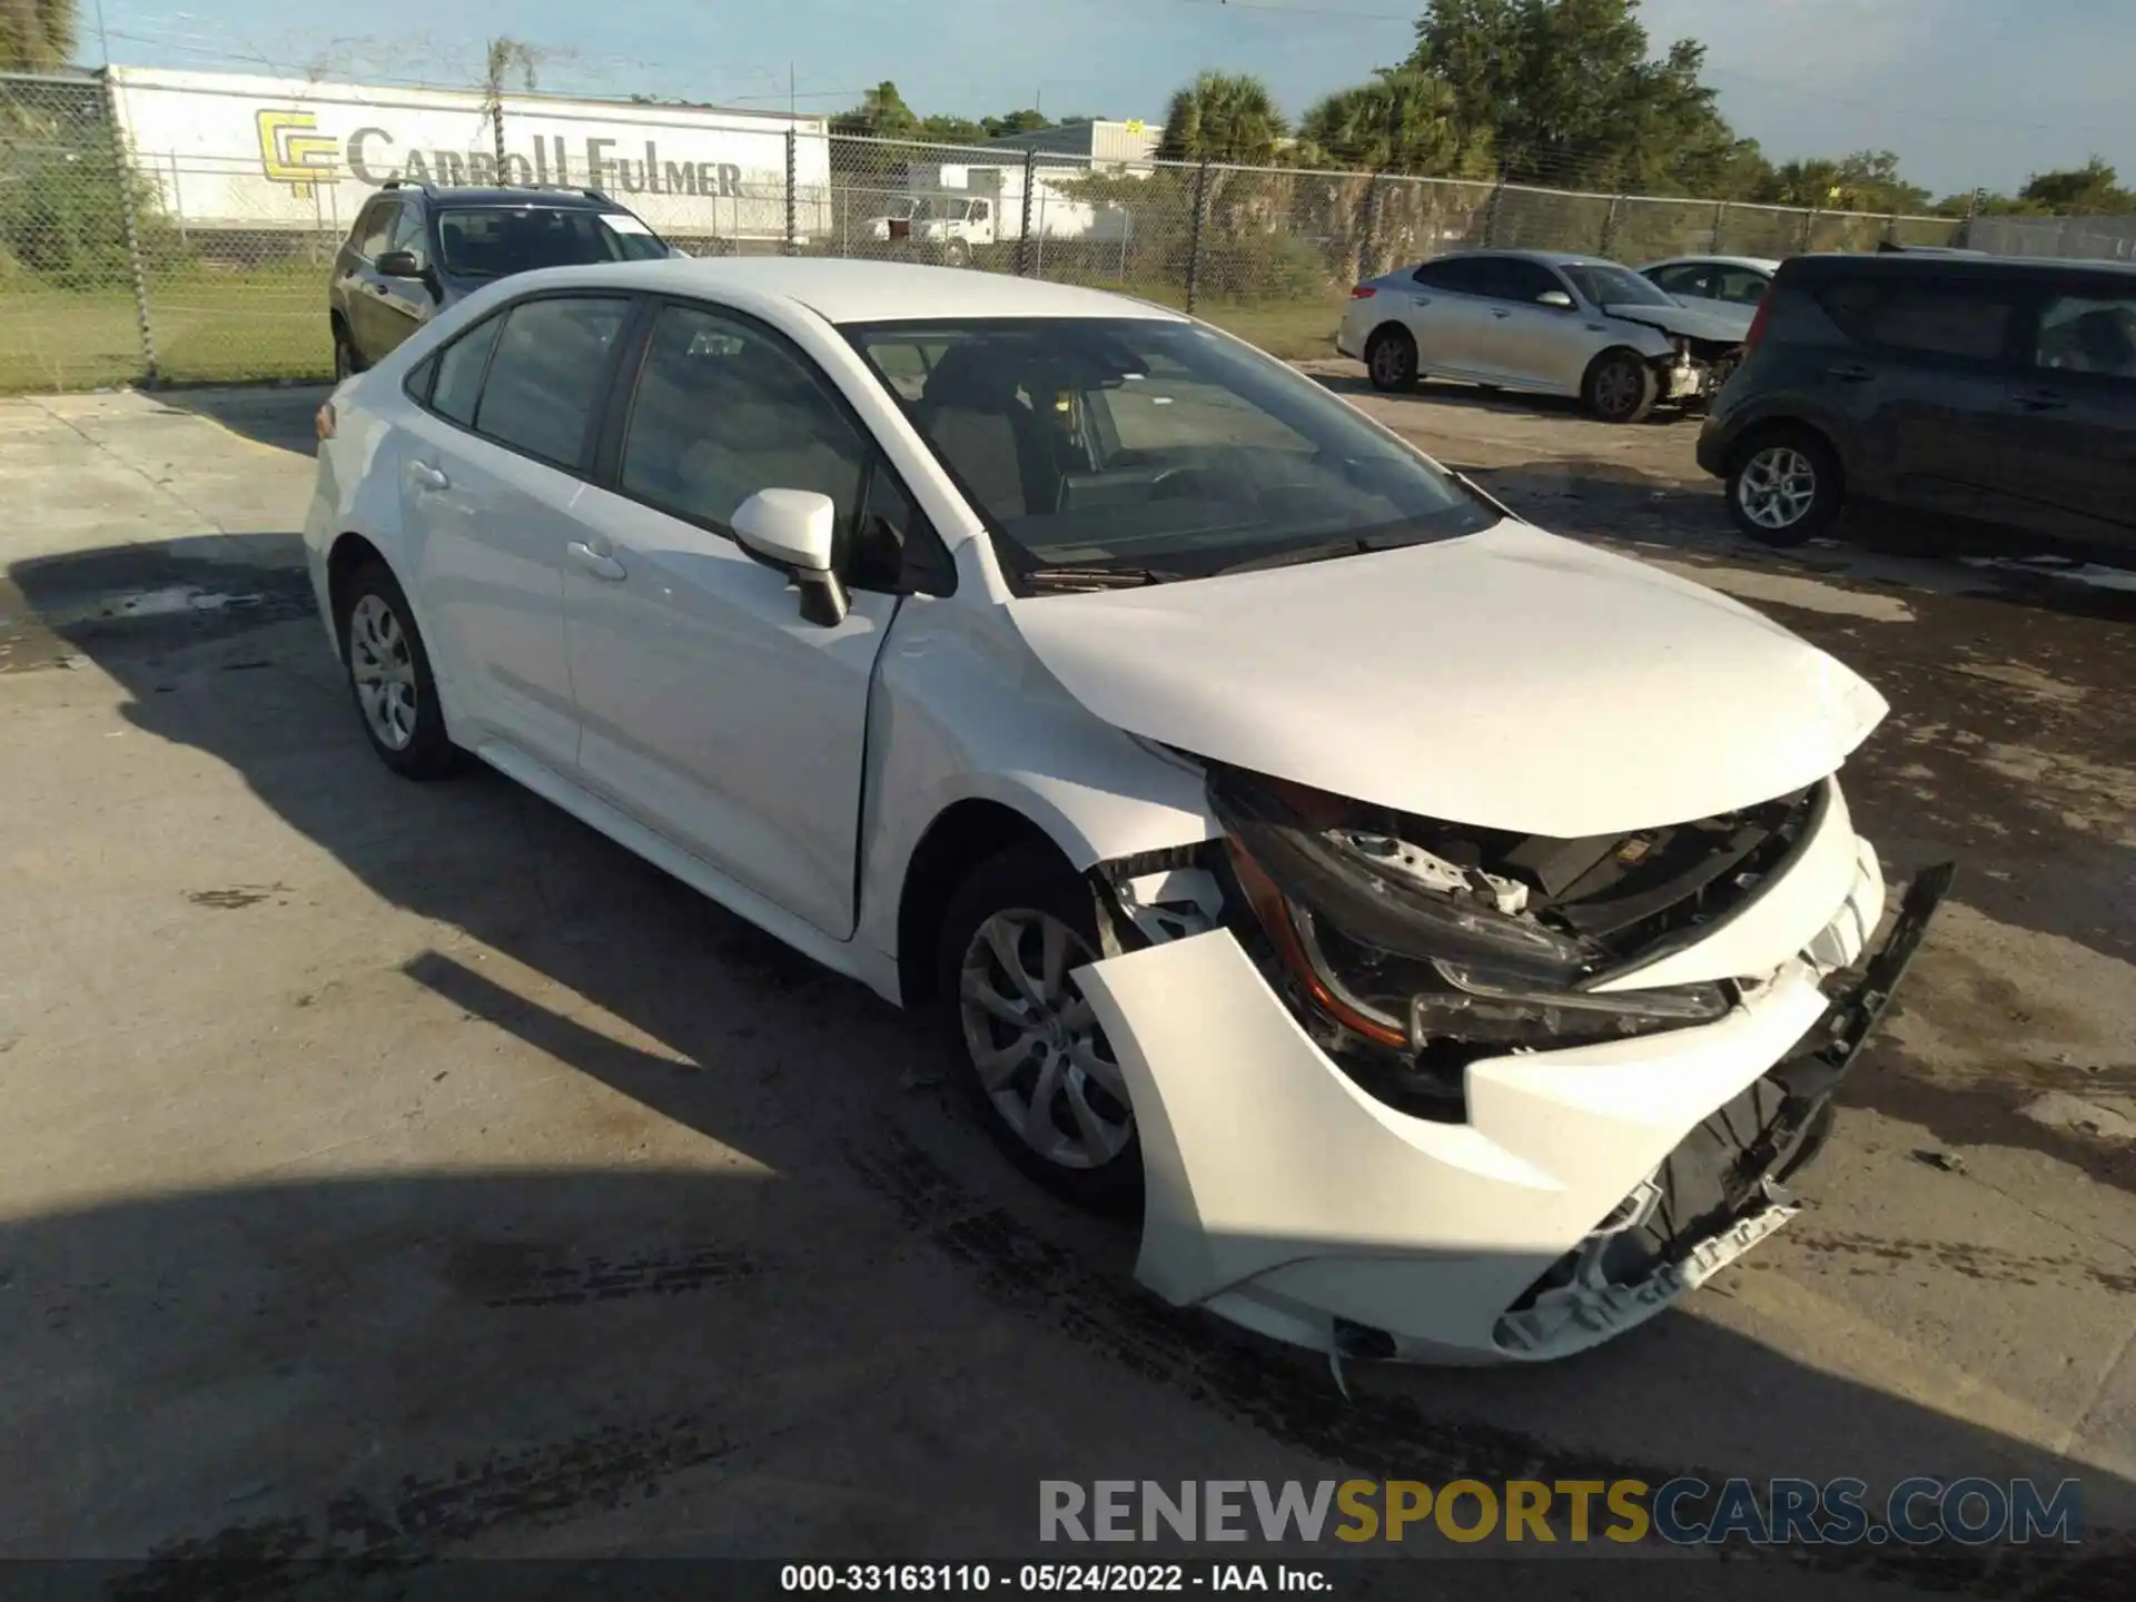
<path id="1" fill-rule="evenodd" d="M 1497 515 L 1320 384 L 1194 323 L 848 327 L 1025 579 L 1220 572 Z"/>

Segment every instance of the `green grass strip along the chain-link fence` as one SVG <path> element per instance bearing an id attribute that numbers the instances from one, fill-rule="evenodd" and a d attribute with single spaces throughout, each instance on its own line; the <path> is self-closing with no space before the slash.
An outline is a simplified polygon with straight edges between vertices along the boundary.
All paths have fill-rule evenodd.
<path id="1" fill-rule="evenodd" d="M 1175 284 L 1091 284 L 1185 308 L 1185 290 Z M 156 376 L 164 382 L 327 378 L 333 372 L 323 267 L 278 263 L 218 271 L 188 265 L 152 278 L 147 301 Z M 1331 350 L 1341 305 L 1335 295 L 1203 297 L 1196 314 L 1297 361 Z M 100 389 L 141 376 L 141 327 L 130 286 L 73 293 L 21 273 L 0 278 L 0 393 Z"/>

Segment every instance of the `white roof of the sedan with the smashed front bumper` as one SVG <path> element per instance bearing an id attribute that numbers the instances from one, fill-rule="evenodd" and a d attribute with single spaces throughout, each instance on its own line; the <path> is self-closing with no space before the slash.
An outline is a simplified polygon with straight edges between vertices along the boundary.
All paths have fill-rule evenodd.
<path id="1" fill-rule="evenodd" d="M 553 271 L 568 273 L 572 284 L 607 282 L 619 288 L 669 295 L 718 295 L 720 290 L 773 295 L 805 305 L 829 323 L 925 323 L 933 318 L 961 323 L 1017 316 L 1185 320 L 1168 308 L 1098 288 L 901 261 L 671 256 Z"/>

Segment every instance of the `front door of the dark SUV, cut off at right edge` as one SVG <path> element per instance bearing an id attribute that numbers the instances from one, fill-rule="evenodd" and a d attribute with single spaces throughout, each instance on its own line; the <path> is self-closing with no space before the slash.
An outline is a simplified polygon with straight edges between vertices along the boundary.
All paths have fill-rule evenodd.
<path id="1" fill-rule="evenodd" d="M 2040 297 L 2010 382 L 2001 500 L 2023 528 L 2136 547 L 2136 288 Z"/>

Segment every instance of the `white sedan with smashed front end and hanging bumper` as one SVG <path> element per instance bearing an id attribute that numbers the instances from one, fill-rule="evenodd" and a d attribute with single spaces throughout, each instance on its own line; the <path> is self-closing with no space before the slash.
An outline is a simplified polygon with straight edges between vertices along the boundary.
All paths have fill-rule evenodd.
<path id="1" fill-rule="evenodd" d="M 1871 953 L 1863 679 L 1141 301 L 536 271 L 318 429 L 391 769 L 936 1008 L 1149 1288 L 1337 1361 L 1593 1346 L 1786 1222 L 1942 891 Z"/>

